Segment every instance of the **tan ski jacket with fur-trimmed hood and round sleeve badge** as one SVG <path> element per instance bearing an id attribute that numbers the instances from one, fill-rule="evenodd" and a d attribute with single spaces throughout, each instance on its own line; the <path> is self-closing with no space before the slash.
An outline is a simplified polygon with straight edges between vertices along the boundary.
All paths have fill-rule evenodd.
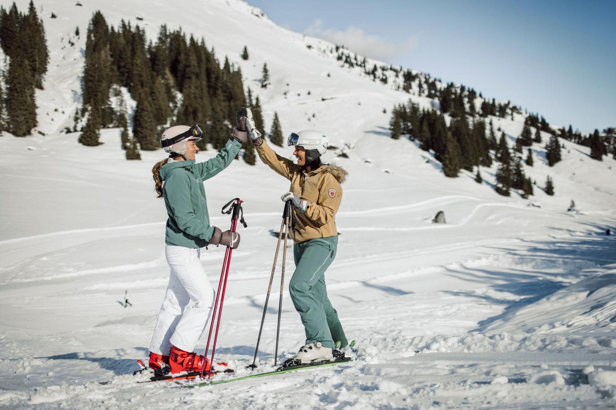
<path id="1" fill-rule="evenodd" d="M 267 166 L 291 181 L 290 191 L 308 201 L 306 212 L 295 210 L 295 229 L 291 238 L 301 243 L 315 238 L 338 235 L 336 212 L 342 201 L 342 187 L 348 172 L 334 164 L 323 164 L 317 169 L 305 172 L 291 159 L 275 153 L 264 139 L 254 147 L 259 158 Z"/>

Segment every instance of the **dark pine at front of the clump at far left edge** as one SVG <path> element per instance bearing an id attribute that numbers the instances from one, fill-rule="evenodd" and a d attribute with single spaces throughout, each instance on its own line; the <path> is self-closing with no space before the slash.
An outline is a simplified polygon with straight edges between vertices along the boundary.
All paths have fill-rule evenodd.
<path id="1" fill-rule="evenodd" d="M 20 55 L 10 59 L 6 74 L 7 129 L 15 137 L 24 137 L 36 127 L 34 76 L 30 65 Z"/>

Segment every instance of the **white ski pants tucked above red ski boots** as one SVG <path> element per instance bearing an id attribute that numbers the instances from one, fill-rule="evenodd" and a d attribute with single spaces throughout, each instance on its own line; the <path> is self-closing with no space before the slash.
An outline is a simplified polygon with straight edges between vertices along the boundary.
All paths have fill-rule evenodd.
<path id="1" fill-rule="evenodd" d="M 171 272 L 150 352 L 168 356 L 171 345 L 194 352 L 208 324 L 215 292 L 199 260 L 201 249 L 166 245 L 164 254 Z"/>

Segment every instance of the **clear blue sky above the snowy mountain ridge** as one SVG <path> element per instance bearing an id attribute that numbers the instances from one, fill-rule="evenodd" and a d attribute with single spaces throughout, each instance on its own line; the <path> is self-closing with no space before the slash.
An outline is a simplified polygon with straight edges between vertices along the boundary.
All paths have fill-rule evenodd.
<path id="1" fill-rule="evenodd" d="M 616 1 L 248 2 L 293 31 L 511 100 L 553 126 L 616 126 Z"/>

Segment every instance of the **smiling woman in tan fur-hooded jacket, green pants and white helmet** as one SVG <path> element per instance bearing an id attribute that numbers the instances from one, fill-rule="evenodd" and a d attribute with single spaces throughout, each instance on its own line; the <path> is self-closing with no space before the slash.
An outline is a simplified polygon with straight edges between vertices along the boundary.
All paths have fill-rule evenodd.
<path id="1" fill-rule="evenodd" d="M 293 305 L 306 331 L 306 344 L 296 356 L 301 363 L 333 358 L 336 342 L 348 345 L 338 320 L 338 312 L 327 297 L 325 271 L 333 262 L 338 247 L 336 212 L 342 199 L 340 184 L 347 172 L 333 164 L 321 163 L 328 139 L 317 131 L 292 133 L 289 147 L 298 163 L 277 155 L 254 127 L 247 110 L 246 128 L 259 158 L 278 174 L 291 181 L 282 201 L 291 201 L 296 217 L 292 231 L 295 271 L 289 283 Z"/>

